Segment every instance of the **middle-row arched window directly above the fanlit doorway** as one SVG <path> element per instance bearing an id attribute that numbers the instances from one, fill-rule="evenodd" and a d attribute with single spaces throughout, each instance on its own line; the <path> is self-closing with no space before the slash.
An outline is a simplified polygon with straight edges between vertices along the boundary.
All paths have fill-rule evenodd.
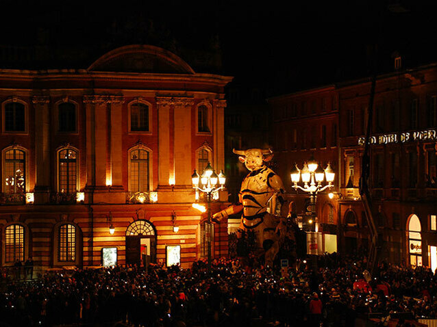
<path id="1" fill-rule="evenodd" d="M 149 191 L 149 151 L 136 149 L 130 152 L 130 191 Z"/>

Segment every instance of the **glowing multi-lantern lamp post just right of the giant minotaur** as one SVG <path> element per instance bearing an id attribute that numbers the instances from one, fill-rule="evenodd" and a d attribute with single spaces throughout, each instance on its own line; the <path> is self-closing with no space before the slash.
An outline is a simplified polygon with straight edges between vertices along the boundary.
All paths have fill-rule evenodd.
<path id="1" fill-rule="evenodd" d="M 290 172 L 290 176 L 293 183 L 292 187 L 294 187 L 296 190 L 301 189 L 302 191 L 310 194 L 311 213 L 314 215 L 317 193 L 322 192 L 327 188 L 334 187 L 332 182 L 334 182 L 335 173 L 334 170 L 332 170 L 331 165 L 327 164 L 326 169 L 323 170 L 323 168 L 317 164 L 317 161 L 314 160 L 314 157 L 311 157 L 310 161 L 308 161 L 308 164 L 307 162 L 303 164 L 302 170 L 299 170 L 297 165 L 295 165 Z M 297 185 L 301 177 L 303 187 Z M 323 186 L 322 183 L 325 177 L 327 185 Z"/>

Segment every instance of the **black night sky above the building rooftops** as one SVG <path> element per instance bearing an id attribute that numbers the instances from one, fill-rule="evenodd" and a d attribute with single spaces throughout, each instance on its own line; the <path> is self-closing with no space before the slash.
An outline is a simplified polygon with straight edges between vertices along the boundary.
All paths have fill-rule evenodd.
<path id="1" fill-rule="evenodd" d="M 125 44 L 158 45 L 189 64 L 190 51 L 218 51 L 213 73 L 284 92 L 369 75 L 373 44 L 381 73 L 395 50 L 406 66 L 437 61 L 436 6 L 423 1 L 42 2 L 2 1 L 0 44 L 45 44 L 58 57 L 77 49 L 70 65 L 81 68 Z M 56 56 L 45 65 L 59 65 Z"/>

